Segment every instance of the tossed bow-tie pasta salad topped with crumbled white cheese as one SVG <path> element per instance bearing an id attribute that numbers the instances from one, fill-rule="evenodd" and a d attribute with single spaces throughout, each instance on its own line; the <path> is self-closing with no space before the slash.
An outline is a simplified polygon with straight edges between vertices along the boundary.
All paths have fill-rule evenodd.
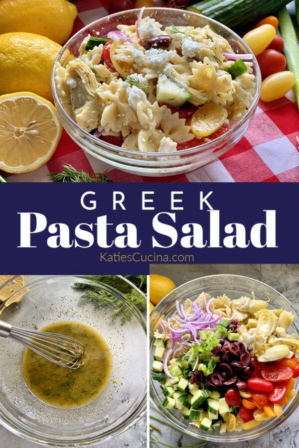
<path id="1" fill-rule="evenodd" d="M 225 133 L 253 102 L 252 63 L 208 25 L 163 29 L 143 12 L 107 39 L 87 36 L 78 57 L 57 64 L 66 112 L 95 137 L 139 152 L 173 153 Z"/>

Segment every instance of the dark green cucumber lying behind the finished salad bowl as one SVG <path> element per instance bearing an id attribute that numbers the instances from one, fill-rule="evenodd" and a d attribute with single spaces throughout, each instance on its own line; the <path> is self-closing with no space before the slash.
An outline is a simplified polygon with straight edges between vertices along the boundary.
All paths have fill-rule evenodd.
<path id="1" fill-rule="evenodd" d="M 262 18 L 275 13 L 290 0 L 203 0 L 192 4 L 188 11 L 204 14 L 234 30 L 251 29 Z"/>

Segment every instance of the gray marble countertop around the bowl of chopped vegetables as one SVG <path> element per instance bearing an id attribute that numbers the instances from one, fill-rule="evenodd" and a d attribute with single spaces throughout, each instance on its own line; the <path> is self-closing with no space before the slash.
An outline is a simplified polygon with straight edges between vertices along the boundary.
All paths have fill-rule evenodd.
<path id="1" fill-rule="evenodd" d="M 267 283 L 284 294 L 293 305 L 299 307 L 299 265 L 298 264 L 176 264 L 151 265 L 151 274 L 165 275 L 171 278 L 176 286 L 197 277 L 212 274 L 238 274 L 252 277 Z M 297 308 L 298 309 L 298 308 Z M 150 415 L 161 418 L 153 406 Z M 298 448 L 299 447 L 299 413 L 295 412 L 278 428 L 251 441 L 234 443 L 233 448 Z M 161 430 L 161 434 L 153 432 L 163 443 L 171 447 L 178 446 L 180 433 L 151 420 Z M 181 446 L 196 445 L 197 439 L 183 435 Z M 151 448 L 158 447 L 152 444 Z M 210 443 L 207 448 L 225 448 L 226 444 Z"/>

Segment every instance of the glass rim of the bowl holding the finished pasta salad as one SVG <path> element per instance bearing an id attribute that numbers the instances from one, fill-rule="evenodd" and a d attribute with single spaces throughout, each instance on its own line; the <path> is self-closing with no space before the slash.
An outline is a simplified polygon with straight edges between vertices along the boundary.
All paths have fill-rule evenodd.
<path id="1" fill-rule="evenodd" d="M 65 50 L 67 50 L 69 44 L 76 40 L 77 37 L 85 30 L 88 30 L 90 27 L 93 27 L 94 25 L 98 24 L 101 21 L 105 21 L 110 17 L 118 17 L 124 13 L 132 13 L 134 15 L 138 16 L 139 11 L 141 10 L 141 8 L 139 9 L 128 9 L 126 11 L 121 11 L 121 12 L 116 12 L 114 14 L 110 14 L 110 15 L 106 15 L 104 17 L 101 17 L 100 19 L 94 20 L 93 22 L 89 23 L 88 25 L 84 26 L 83 28 L 81 28 L 79 31 L 77 31 L 62 47 L 62 49 L 60 50 L 60 52 L 58 53 L 53 68 L 52 68 L 52 73 L 51 73 L 51 89 L 52 89 L 52 94 L 53 94 L 53 98 L 54 98 L 54 102 L 56 105 L 56 108 L 59 109 L 59 112 L 62 113 L 63 117 L 66 119 L 66 121 L 68 122 L 68 124 L 75 129 L 75 131 L 77 131 L 78 133 L 81 133 L 88 141 L 90 141 L 91 144 L 94 144 L 96 142 L 100 142 L 100 145 L 103 146 L 105 149 L 108 150 L 112 150 L 114 152 L 116 152 L 117 154 L 121 153 L 124 155 L 131 155 L 131 156 L 136 156 L 137 151 L 132 150 L 132 149 L 126 149 L 126 148 L 122 148 L 116 145 L 113 145 L 111 143 L 105 142 L 104 140 L 99 140 L 98 138 L 94 137 L 93 135 L 91 135 L 89 132 L 85 131 L 82 127 L 80 127 L 68 114 L 67 112 L 64 110 L 64 108 L 62 107 L 60 100 L 58 98 L 58 94 L 57 94 L 57 90 L 56 90 L 56 83 L 55 83 L 55 69 L 56 69 L 56 64 L 57 62 L 60 61 L 60 58 L 62 57 L 63 53 L 65 52 Z M 163 7 L 151 7 L 151 8 L 145 8 L 146 11 L 149 12 L 155 12 L 156 10 L 164 10 L 164 11 L 175 11 L 177 13 L 177 11 L 180 11 L 180 9 L 176 9 L 176 8 L 163 8 Z M 184 156 L 184 155 L 191 155 L 193 154 L 193 152 L 196 152 L 197 150 L 199 150 L 200 152 L 205 152 L 206 150 L 208 150 L 212 145 L 216 144 L 221 144 L 226 138 L 229 138 L 231 135 L 233 135 L 250 117 L 251 115 L 255 112 L 259 99 L 260 99 L 260 92 L 261 92 L 261 85 L 262 85 L 262 77 L 261 77 L 261 71 L 259 68 L 259 64 L 257 62 L 257 59 L 255 57 L 255 55 L 253 54 L 253 52 L 251 51 L 251 49 L 249 48 L 249 46 L 243 41 L 243 39 L 237 34 L 235 33 L 232 29 L 228 28 L 227 26 L 223 25 L 222 23 L 218 22 L 217 20 L 211 19 L 203 14 L 199 14 L 197 12 L 192 12 L 192 11 L 188 11 L 188 10 L 181 10 L 184 14 L 187 15 L 195 15 L 195 16 L 200 16 L 203 19 L 205 19 L 207 22 L 216 24 L 217 26 L 220 25 L 221 28 L 223 28 L 224 30 L 228 31 L 230 34 L 233 35 L 234 38 L 237 39 L 238 42 L 241 42 L 242 45 L 246 48 L 248 54 L 252 55 L 252 63 L 254 66 L 254 69 L 256 71 L 255 74 L 255 81 L 256 81 L 256 91 L 255 91 L 255 95 L 254 95 L 254 99 L 252 104 L 250 105 L 250 107 L 248 108 L 248 110 L 246 111 L 246 113 L 244 113 L 244 115 L 241 117 L 241 119 L 239 121 L 237 121 L 227 132 L 225 132 L 223 135 L 220 135 L 219 137 L 215 138 L 214 140 L 210 141 L 210 142 L 206 142 L 203 143 L 201 145 L 198 146 L 194 146 L 192 148 L 188 148 L 188 149 L 181 149 L 179 151 L 179 155 L 180 156 Z M 142 152 L 141 153 L 145 158 L 147 157 L 158 157 L 160 160 L 163 160 L 163 158 L 165 157 L 169 157 L 169 156 L 173 156 L 173 155 L 177 155 L 177 151 L 168 151 L 168 152 L 162 152 L 162 153 L 157 153 L 157 152 Z M 126 158 L 126 160 L 128 160 L 128 158 Z M 166 159 L 167 160 L 167 159 Z"/>

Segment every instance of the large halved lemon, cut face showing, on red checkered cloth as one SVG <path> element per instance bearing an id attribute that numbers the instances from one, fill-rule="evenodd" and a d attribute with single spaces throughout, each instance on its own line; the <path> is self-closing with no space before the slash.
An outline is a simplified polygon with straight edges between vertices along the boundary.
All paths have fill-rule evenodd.
<path id="1" fill-rule="evenodd" d="M 61 137 L 55 107 L 30 92 L 0 96 L 0 169 L 26 173 L 47 162 Z"/>

